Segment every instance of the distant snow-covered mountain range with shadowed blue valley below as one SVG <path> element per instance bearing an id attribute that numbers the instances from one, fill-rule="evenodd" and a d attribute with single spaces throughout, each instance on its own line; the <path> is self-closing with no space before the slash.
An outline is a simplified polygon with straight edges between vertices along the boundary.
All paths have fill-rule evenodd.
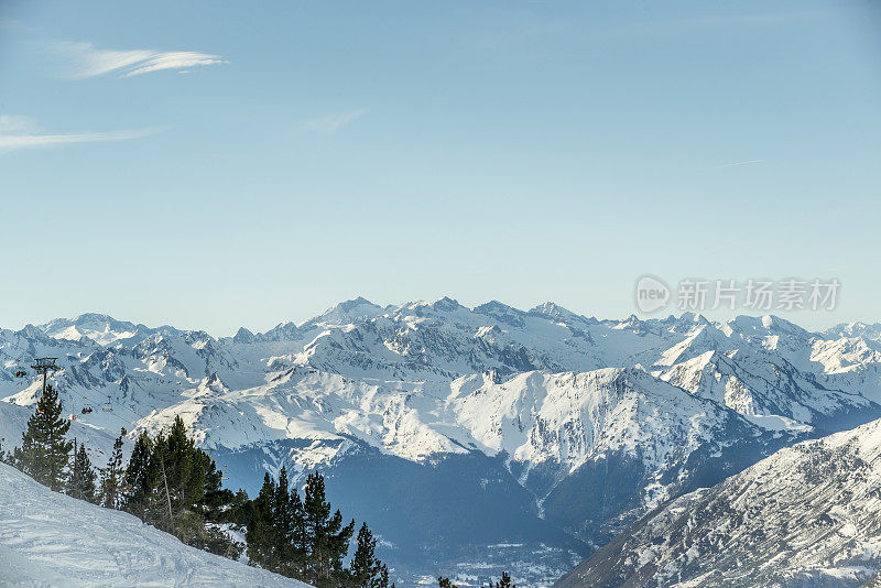
<path id="1" fill-rule="evenodd" d="M 0 330 L 0 399 L 22 406 L 8 423 L 36 401 L 35 357 L 59 358 L 53 380 L 96 453 L 180 414 L 229 486 L 322 469 L 410 580 L 455 564 L 546 584 L 668 499 L 881 417 L 880 325 L 773 316 L 357 298 L 214 338 L 89 314 Z M 0 426 L 4 445 L 17 431 Z"/>

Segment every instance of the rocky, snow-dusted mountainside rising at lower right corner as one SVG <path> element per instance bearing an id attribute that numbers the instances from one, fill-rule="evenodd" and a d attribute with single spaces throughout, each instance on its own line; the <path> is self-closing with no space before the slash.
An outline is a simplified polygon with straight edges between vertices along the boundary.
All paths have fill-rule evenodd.
<path id="1" fill-rule="evenodd" d="M 881 579 L 881 421 L 781 449 L 635 523 L 556 588 Z"/>

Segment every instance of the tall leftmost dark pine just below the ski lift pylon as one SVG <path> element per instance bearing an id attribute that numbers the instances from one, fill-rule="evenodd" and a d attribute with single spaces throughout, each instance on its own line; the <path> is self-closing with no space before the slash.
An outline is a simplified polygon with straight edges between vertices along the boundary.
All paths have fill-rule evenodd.
<path id="1" fill-rule="evenodd" d="M 62 417 L 62 410 L 58 393 L 46 386 L 36 412 L 28 420 L 21 447 L 13 453 L 13 462 L 20 470 L 56 491 L 65 486 L 68 454 L 74 446 L 65 438 L 70 421 Z"/>

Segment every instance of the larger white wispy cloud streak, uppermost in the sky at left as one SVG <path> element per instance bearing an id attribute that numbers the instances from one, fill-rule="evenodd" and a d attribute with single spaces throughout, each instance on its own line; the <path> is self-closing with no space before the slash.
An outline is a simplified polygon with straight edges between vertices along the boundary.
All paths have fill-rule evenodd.
<path id="1" fill-rule="evenodd" d="M 99 50 L 91 43 L 68 41 L 50 43 L 47 48 L 67 62 L 67 75 L 76 79 L 106 74 L 130 77 L 163 69 L 181 70 L 229 63 L 219 55 L 195 51 Z"/>

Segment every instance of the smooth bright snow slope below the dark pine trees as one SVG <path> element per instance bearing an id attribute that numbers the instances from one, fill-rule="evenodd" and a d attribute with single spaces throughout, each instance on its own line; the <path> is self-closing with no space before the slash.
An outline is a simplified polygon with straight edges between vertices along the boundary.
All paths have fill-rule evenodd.
<path id="1" fill-rule="evenodd" d="M 182 544 L 0 464 L 0 586 L 307 585 Z"/>

